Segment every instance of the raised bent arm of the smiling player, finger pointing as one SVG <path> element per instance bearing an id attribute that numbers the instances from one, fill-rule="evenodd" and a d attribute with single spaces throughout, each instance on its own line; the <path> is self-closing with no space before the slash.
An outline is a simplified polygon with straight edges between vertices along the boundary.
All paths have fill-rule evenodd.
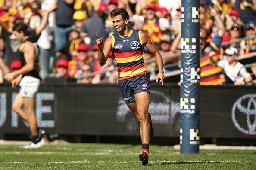
<path id="1" fill-rule="evenodd" d="M 103 66 L 106 64 L 106 61 L 109 57 L 109 52 L 112 49 L 112 37 L 108 37 L 104 43 L 103 47 L 103 38 L 100 38 L 98 35 L 96 36 L 96 45 L 99 47 L 99 53 L 98 53 L 98 61 L 100 66 Z"/>

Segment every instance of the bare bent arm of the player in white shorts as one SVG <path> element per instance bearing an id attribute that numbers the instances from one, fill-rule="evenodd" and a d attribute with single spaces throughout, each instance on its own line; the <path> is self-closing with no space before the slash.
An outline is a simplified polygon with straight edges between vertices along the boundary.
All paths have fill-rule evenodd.
<path id="1" fill-rule="evenodd" d="M 34 59 L 35 59 L 34 53 L 35 53 L 35 48 L 34 48 L 33 43 L 25 42 L 22 51 L 24 52 L 24 57 L 25 57 L 26 65 L 23 66 L 19 70 L 15 70 L 15 71 L 13 71 L 11 73 L 6 74 L 4 76 L 4 79 L 6 79 L 7 81 L 10 81 L 15 76 L 27 73 L 27 72 L 29 72 L 29 71 L 34 69 Z"/>

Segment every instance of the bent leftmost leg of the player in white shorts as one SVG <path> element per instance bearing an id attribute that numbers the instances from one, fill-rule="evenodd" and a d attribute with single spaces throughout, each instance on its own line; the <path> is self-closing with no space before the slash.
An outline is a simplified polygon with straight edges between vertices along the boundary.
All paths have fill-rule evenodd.
<path id="1" fill-rule="evenodd" d="M 12 103 L 12 110 L 16 112 L 23 120 L 28 121 L 28 116 L 25 114 L 25 111 L 23 110 L 23 105 L 23 99 L 19 92 Z"/>

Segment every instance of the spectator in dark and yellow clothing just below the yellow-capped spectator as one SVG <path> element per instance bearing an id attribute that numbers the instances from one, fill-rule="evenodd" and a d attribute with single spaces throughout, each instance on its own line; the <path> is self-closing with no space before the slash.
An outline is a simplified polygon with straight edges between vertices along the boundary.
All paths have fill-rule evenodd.
<path id="1" fill-rule="evenodd" d="M 56 57 L 59 57 L 61 54 L 65 54 L 68 60 L 72 60 L 75 56 L 78 55 L 77 48 L 79 44 L 83 41 L 81 36 L 81 28 L 72 25 L 69 28 L 69 41 L 67 41 L 62 48 L 56 52 Z"/>

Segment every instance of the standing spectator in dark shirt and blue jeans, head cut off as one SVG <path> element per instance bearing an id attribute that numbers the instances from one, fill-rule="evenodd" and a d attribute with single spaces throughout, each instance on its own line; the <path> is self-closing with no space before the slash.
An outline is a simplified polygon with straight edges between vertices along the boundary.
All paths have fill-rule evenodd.
<path id="1" fill-rule="evenodd" d="M 59 9 L 55 12 L 56 28 L 54 32 L 55 52 L 59 51 L 68 41 L 69 28 L 74 24 L 75 0 L 58 0 Z"/>

